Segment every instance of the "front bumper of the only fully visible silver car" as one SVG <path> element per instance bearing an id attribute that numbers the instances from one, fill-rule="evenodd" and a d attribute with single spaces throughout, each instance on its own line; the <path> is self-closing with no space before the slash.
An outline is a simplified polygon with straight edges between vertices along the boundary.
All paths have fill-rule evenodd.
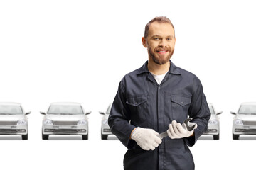
<path id="1" fill-rule="evenodd" d="M 87 125 L 43 125 L 44 135 L 87 135 Z"/>

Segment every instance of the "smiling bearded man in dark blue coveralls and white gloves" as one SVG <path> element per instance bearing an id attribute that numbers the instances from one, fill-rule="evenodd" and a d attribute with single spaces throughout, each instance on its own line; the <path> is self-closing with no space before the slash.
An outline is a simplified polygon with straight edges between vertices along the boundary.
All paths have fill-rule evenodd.
<path id="1" fill-rule="evenodd" d="M 128 148 L 124 169 L 194 169 L 188 146 L 206 130 L 210 111 L 201 81 L 171 62 L 175 41 L 168 18 L 149 21 L 142 38 L 149 60 L 119 84 L 109 125 Z M 182 125 L 188 116 L 192 131 Z M 169 137 L 161 139 L 166 130 Z"/>

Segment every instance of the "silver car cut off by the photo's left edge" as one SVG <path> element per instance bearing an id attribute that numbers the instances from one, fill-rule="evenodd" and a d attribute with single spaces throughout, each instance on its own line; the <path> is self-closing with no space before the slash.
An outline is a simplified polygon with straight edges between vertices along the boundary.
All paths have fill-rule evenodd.
<path id="1" fill-rule="evenodd" d="M 21 135 L 28 140 L 28 118 L 20 103 L 0 103 L 0 135 Z"/>

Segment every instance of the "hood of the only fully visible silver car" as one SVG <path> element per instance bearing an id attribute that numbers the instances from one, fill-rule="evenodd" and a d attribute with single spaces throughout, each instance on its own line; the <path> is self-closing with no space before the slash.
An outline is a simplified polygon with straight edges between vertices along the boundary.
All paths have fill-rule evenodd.
<path id="1" fill-rule="evenodd" d="M 78 121 L 82 119 L 86 119 L 85 115 L 46 115 L 47 119 L 53 121 Z"/>

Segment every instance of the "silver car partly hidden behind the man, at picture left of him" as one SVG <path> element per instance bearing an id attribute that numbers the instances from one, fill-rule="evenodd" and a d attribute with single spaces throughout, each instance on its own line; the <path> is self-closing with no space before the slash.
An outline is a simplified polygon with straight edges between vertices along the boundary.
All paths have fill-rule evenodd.
<path id="1" fill-rule="evenodd" d="M 102 140 L 107 140 L 108 135 L 112 135 L 112 132 L 110 130 L 110 126 L 107 123 L 108 117 L 110 115 L 110 110 L 112 107 L 112 103 L 110 103 L 110 105 L 107 108 L 106 113 L 104 112 L 99 112 L 100 114 L 104 115 L 102 117 L 102 125 L 101 125 L 101 138 Z"/>

